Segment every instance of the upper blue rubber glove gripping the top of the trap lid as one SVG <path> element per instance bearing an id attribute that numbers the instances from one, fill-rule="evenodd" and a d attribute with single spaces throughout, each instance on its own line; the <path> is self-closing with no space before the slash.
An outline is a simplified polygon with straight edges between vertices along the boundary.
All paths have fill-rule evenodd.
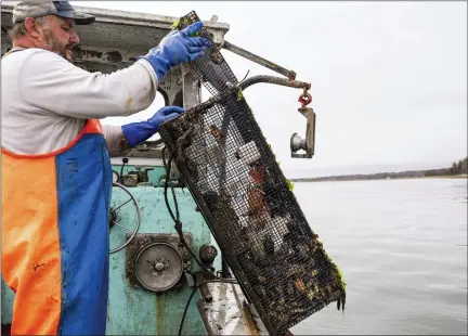
<path id="1" fill-rule="evenodd" d="M 171 67 L 203 56 L 205 49 L 211 47 L 210 41 L 202 37 L 192 37 L 202 27 L 203 23 L 196 22 L 183 30 L 172 30 L 160 41 L 158 47 L 153 48 L 145 56 L 139 56 L 136 60 L 148 61 L 160 81 Z"/>

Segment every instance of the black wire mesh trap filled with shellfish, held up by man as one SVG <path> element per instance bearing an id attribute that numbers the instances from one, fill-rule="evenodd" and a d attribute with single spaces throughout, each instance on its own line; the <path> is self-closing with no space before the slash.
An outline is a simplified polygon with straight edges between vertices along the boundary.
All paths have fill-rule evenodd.
<path id="1" fill-rule="evenodd" d="M 176 28 L 197 21 L 191 12 Z M 200 36 L 212 41 L 205 29 Z M 216 47 L 190 66 L 212 96 L 159 132 L 246 296 L 271 334 L 330 302 L 340 309 L 341 274 L 306 220 L 230 66 Z"/>

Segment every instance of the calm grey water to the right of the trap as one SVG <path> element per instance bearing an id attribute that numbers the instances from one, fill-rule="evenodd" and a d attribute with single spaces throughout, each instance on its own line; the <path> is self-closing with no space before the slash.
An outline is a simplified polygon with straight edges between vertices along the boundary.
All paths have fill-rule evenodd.
<path id="1" fill-rule="evenodd" d="M 347 282 L 336 305 L 291 332 L 467 334 L 467 181 L 296 183 L 308 220 Z"/>

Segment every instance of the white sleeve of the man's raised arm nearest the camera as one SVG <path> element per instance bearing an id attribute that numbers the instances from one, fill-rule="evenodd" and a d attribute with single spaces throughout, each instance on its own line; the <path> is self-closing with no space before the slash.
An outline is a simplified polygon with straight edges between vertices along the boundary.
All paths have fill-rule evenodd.
<path id="1" fill-rule="evenodd" d="M 156 96 L 157 77 L 144 60 L 112 74 L 89 73 L 38 49 L 18 78 L 23 99 L 44 113 L 83 119 L 130 116 Z"/>

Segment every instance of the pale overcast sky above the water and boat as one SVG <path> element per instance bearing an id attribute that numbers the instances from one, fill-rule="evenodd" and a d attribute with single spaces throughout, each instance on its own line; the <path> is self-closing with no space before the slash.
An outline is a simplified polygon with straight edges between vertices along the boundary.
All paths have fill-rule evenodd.
<path id="1" fill-rule="evenodd" d="M 226 40 L 312 82 L 317 129 L 311 160 L 289 154 L 291 133 L 306 130 L 297 112 L 300 91 L 257 85 L 245 92 L 286 171 L 438 167 L 467 155 L 465 1 L 72 3 L 171 16 L 195 10 L 203 20 L 216 14 L 231 25 Z M 247 70 L 249 76 L 277 75 L 229 51 L 223 54 L 239 79 Z M 147 118 L 159 106 L 161 100 L 127 120 Z"/>

